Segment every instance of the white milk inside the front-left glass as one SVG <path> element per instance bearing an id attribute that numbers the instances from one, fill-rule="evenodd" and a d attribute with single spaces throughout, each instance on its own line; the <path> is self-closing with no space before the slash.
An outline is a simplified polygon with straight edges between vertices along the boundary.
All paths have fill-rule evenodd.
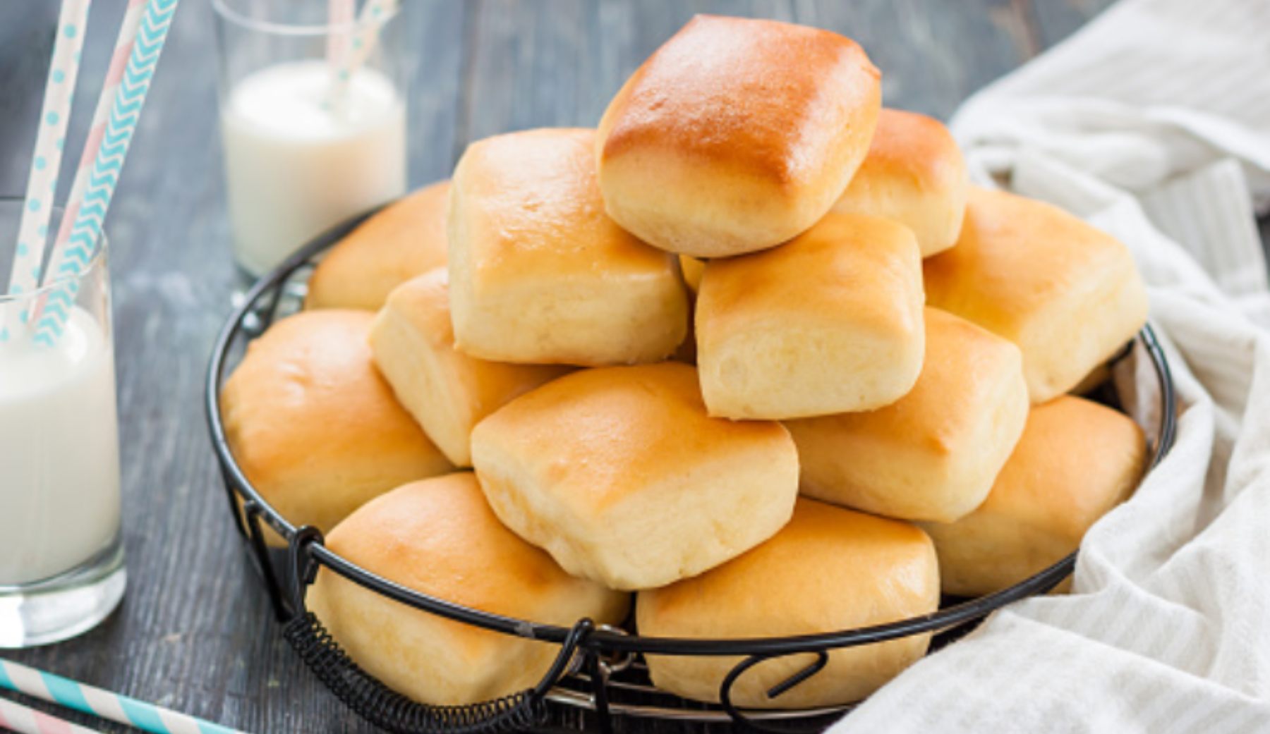
<path id="1" fill-rule="evenodd" d="M 0 585 L 67 571 L 118 528 L 114 356 L 74 309 L 53 348 L 0 344 Z"/>

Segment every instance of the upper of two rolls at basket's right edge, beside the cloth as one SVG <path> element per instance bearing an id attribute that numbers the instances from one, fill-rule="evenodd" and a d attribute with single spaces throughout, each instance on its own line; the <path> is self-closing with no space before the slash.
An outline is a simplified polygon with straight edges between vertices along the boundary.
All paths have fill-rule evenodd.
<path id="1" fill-rule="evenodd" d="M 1074 387 L 1147 321 L 1128 248 L 1046 203 L 970 189 L 955 248 L 925 263 L 926 300 L 1010 339 L 1033 403 Z"/>

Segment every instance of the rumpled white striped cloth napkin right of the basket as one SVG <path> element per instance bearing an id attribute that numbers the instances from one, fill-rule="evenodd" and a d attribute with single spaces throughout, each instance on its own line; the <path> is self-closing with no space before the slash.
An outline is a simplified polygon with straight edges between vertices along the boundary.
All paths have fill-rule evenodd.
<path id="1" fill-rule="evenodd" d="M 1124 0 L 951 127 L 980 183 L 1133 250 L 1177 442 L 1069 596 L 998 611 L 834 731 L 1270 731 L 1270 1 Z"/>

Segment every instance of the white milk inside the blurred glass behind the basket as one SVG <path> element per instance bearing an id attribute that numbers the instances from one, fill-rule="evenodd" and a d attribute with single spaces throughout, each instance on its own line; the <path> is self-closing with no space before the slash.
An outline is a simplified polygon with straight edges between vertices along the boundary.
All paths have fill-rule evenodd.
<path id="1" fill-rule="evenodd" d="M 335 222 L 405 193 L 405 107 L 392 81 L 361 69 L 333 112 L 326 62 L 257 71 L 221 113 L 237 262 L 254 274 Z"/>

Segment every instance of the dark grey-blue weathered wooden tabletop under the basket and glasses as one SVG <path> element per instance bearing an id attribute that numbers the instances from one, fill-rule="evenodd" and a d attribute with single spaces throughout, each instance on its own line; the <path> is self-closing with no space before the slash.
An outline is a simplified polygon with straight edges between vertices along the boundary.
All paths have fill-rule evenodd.
<path id="1" fill-rule="evenodd" d="M 1107 4 L 409 0 L 417 53 L 410 179 L 446 177 L 469 141 L 491 133 L 594 124 L 622 80 L 693 13 L 762 15 L 842 32 L 883 70 L 888 104 L 946 118 L 975 89 Z M 0 193 L 20 194 L 25 183 L 56 5 L 0 3 Z M 97 98 L 122 6 L 123 0 L 94 3 L 84 62 L 97 74 L 85 74 L 83 100 Z M 208 447 L 203 368 L 239 284 L 229 254 L 213 43 L 208 3 L 185 0 L 107 224 L 127 597 L 77 640 L 4 654 L 253 733 L 368 731 L 279 636 L 231 528 Z M 74 117 L 70 161 L 79 157 L 90 109 L 85 102 Z"/>

